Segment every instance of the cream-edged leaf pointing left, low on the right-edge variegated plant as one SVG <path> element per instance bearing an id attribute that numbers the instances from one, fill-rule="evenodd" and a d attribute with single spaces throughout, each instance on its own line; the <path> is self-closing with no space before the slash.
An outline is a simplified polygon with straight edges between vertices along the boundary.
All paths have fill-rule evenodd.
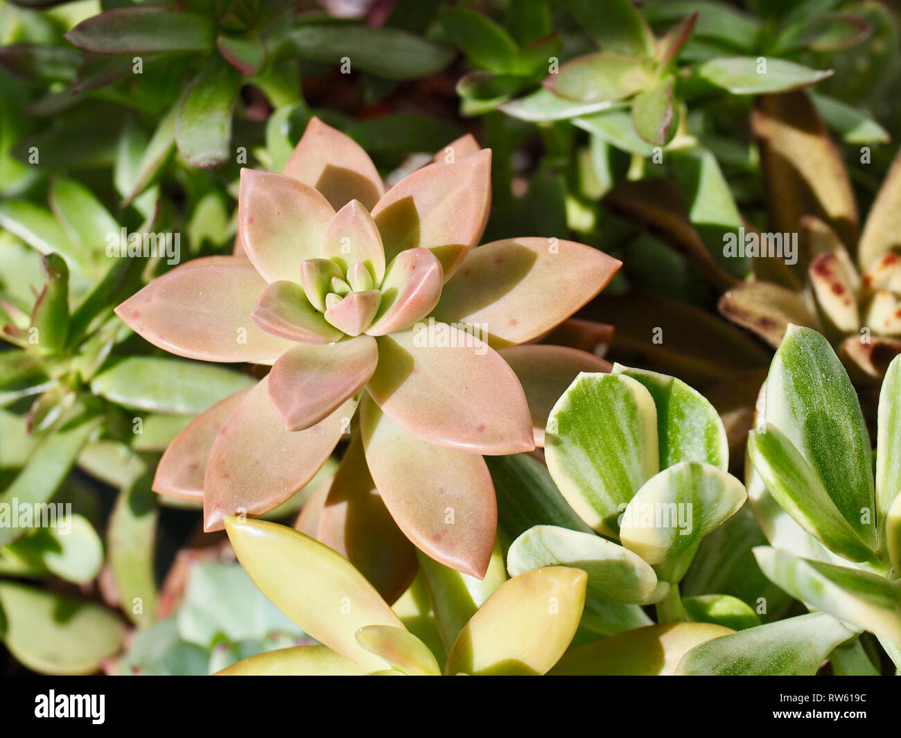
<path id="1" fill-rule="evenodd" d="M 760 546 L 757 563 L 769 579 L 807 606 L 901 642 L 901 585 L 861 569 L 801 559 Z"/>

